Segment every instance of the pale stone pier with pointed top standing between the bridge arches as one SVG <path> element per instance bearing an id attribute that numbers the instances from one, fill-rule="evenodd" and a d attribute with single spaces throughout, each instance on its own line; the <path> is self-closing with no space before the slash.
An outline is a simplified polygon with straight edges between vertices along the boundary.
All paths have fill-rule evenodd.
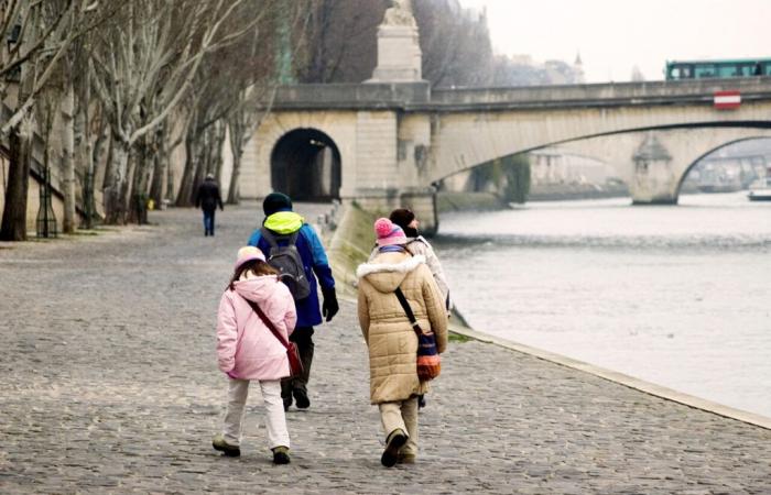
<path id="1" fill-rule="evenodd" d="M 632 156 L 631 194 L 634 205 L 676 205 L 680 176 L 672 155 L 650 132 Z"/>

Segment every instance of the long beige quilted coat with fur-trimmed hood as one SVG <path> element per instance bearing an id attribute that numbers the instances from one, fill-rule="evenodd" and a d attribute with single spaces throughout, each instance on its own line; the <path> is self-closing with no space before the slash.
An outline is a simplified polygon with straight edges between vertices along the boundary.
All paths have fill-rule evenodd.
<path id="1" fill-rule="evenodd" d="M 372 404 L 404 400 L 425 394 L 417 380 L 417 336 L 399 304 L 401 287 L 417 323 L 436 334 L 436 348 L 447 348 L 447 314 L 431 270 L 422 255 L 380 253 L 356 271 L 359 277 L 359 324 L 369 348 L 370 400 Z"/>

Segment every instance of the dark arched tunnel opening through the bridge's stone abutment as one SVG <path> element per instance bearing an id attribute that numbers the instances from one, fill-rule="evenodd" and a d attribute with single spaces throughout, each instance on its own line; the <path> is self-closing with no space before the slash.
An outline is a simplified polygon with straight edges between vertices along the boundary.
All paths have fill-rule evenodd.
<path id="1" fill-rule="evenodd" d="M 340 152 L 315 129 L 284 134 L 271 155 L 271 186 L 297 201 L 330 201 L 340 197 Z"/>

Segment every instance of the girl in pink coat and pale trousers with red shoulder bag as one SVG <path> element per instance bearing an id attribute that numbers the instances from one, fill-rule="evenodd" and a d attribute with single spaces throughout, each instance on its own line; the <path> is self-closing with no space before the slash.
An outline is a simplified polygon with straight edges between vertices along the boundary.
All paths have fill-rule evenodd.
<path id="1" fill-rule="evenodd" d="M 281 399 L 281 378 L 290 375 L 286 349 L 262 322 L 249 301 L 257 304 L 275 329 L 289 339 L 297 315 L 289 288 L 278 272 L 265 263 L 265 256 L 252 246 L 238 251 L 230 285 L 219 301 L 217 315 L 217 360 L 228 375 L 228 410 L 222 432 L 211 444 L 225 455 L 241 454 L 241 425 L 249 392 L 249 382 L 257 381 L 265 406 L 268 442 L 273 462 L 290 462 L 290 439 Z"/>

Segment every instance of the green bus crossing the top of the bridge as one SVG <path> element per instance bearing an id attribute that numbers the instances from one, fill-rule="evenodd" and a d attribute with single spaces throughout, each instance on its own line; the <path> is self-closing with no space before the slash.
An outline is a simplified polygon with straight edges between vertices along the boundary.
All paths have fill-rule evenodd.
<path id="1" fill-rule="evenodd" d="M 771 58 L 672 61 L 666 63 L 665 75 L 666 80 L 771 76 Z"/>

